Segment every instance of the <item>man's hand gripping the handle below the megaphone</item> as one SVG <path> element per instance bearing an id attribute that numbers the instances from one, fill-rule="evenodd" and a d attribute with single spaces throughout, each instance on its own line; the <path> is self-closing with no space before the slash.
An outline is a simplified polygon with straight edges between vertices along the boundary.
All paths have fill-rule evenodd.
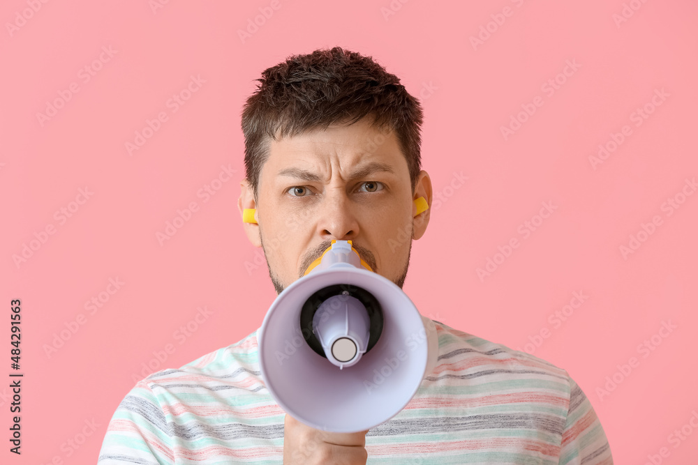
<path id="1" fill-rule="evenodd" d="M 286 414 L 283 420 L 283 465 L 366 465 L 366 431 L 328 433 Z"/>

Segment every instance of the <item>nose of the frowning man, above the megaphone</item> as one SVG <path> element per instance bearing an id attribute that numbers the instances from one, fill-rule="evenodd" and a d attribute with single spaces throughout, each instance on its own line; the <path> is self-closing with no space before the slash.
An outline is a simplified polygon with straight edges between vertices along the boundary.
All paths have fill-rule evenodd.
<path id="1" fill-rule="evenodd" d="M 341 188 L 328 189 L 318 212 L 318 230 L 323 241 L 352 241 L 359 234 L 355 204 Z"/>

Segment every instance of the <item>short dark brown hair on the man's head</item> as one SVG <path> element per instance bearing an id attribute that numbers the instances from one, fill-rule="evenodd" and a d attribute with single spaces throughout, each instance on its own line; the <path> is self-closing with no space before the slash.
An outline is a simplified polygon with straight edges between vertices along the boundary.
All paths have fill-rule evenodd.
<path id="1" fill-rule="evenodd" d="M 353 124 L 365 116 L 371 117 L 373 128 L 396 132 L 414 192 L 422 167 L 422 106 L 370 56 L 341 47 L 318 49 L 289 56 L 255 80 L 260 84 L 242 110 L 246 177 L 255 199 L 272 139 L 334 123 Z"/>

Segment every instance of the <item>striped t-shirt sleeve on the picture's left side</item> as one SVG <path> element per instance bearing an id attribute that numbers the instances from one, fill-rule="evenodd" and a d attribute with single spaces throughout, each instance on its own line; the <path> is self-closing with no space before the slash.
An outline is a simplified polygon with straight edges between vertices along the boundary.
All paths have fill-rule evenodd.
<path id="1" fill-rule="evenodd" d="M 172 432 L 158 397 L 140 381 L 114 412 L 98 465 L 174 464 Z"/>

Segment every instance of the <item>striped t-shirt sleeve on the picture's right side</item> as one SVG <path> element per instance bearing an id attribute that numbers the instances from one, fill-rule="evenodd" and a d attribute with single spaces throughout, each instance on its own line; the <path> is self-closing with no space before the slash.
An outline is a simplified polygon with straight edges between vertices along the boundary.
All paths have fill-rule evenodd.
<path id="1" fill-rule="evenodd" d="M 613 465 L 611 447 L 591 402 L 570 377 L 570 406 L 560 448 L 560 465 Z"/>

